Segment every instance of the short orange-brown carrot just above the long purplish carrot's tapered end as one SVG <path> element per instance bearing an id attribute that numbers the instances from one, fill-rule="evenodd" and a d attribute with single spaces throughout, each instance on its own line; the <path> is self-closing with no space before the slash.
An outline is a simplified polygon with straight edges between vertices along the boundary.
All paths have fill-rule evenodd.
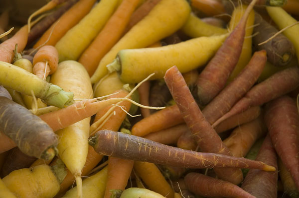
<path id="1" fill-rule="evenodd" d="M 252 145 L 266 134 L 267 128 L 262 116 L 241 125 L 223 140 L 235 157 L 245 157 Z"/>

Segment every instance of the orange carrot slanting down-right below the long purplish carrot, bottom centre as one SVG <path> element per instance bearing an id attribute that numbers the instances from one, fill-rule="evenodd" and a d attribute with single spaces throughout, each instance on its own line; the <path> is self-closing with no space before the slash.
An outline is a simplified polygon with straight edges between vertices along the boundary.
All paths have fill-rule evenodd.
<path id="1" fill-rule="evenodd" d="M 134 170 L 142 181 L 149 187 L 149 190 L 166 198 L 173 198 L 174 191 L 155 164 L 135 161 Z"/>

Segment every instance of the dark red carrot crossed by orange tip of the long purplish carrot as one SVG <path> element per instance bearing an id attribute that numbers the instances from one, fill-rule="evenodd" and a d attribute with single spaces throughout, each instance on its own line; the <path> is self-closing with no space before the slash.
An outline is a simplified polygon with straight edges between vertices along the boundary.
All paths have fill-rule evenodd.
<path id="1" fill-rule="evenodd" d="M 277 169 L 276 151 L 268 134 L 260 148 L 256 160 L 271 164 Z M 269 173 L 249 170 L 241 188 L 257 198 L 277 198 L 278 171 Z"/>

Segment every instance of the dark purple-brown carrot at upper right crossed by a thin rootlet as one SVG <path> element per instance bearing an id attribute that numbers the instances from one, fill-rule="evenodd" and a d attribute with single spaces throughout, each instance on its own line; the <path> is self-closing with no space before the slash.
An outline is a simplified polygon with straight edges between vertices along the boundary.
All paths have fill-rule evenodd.
<path id="1" fill-rule="evenodd" d="M 255 13 L 255 23 L 259 24 L 254 27 L 254 32 L 258 33 L 253 37 L 256 48 L 258 50 L 266 50 L 268 61 L 275 66 L 285 66 L 290 63 L 295 56 L 293 43 L 283 34 L 279 34 L 270 42 L 259 45 L 259 43 L 266 41 L 277 33 L 278 30 L 258 13 Z"/>

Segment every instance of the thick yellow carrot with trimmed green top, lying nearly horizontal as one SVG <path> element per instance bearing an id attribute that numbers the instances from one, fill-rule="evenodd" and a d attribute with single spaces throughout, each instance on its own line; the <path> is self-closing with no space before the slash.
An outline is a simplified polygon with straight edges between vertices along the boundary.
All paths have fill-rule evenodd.
<path id="1" fill-rule="evenodd" d="M 123 49 L 107 68 L 110 72 L 116 70 L 120 79 L 126 83 L 140 82 L 153 72 L 155 75 L 151 80 L 162 79 L 165 71 L 174 65 L 182 73 L 204 66 L 226 37 L 227 34 L 222 34 L 157 48 Z"/>

